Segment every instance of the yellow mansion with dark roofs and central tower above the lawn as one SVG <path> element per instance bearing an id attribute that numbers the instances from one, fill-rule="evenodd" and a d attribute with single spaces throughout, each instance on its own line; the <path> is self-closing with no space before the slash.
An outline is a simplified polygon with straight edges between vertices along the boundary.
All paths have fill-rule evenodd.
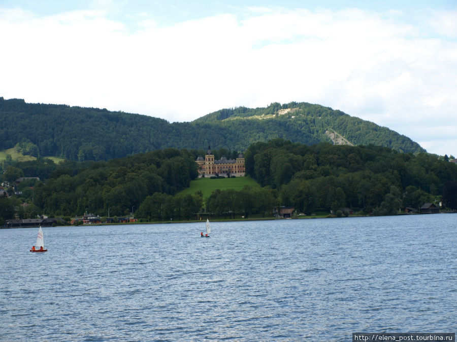
<path id="1" fill-rule="evenodd" d="M 244 176 L 244 157 L 242 154 L 238 155 L 236 160 L 225 157 L 214 160 L 214 155 L 211 153 L 210 146 L 208 146 L 205 159 L 199 156 L 196 162 L 200 166 L 199 177 Z"/>

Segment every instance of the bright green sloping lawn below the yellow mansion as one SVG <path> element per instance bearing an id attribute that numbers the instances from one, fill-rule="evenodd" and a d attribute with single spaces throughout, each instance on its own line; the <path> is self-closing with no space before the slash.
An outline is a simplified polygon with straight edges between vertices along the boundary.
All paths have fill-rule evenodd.
<path id="1" fill-rule="evenodd" d="M 227 190 L 234 189 L 240 191 L 245 185 L 260 186 L 251 177 L 236 177 L 236 178 L 197 178 L 190 181 L 190 186 L 179 193 L 179 195 L 190 194 L 193 195 L 195 192 L 201 190 L 203 193 L 203 199 L 206 200 L 211 193 L 216 190 Z"/>

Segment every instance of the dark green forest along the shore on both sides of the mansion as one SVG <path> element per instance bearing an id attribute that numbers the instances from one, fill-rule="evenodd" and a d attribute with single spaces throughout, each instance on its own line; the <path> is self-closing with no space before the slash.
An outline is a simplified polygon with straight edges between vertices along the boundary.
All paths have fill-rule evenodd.
<path id="1" fill-rule="evenodd" d="M 213 152 L 216 158 L 236 154 L 226 149 Z M 246 173 L 262 187 L 217 190 L 206 202 L 199 192 L 179 195 L 198 176 L 194 161 L 203 153 L 166 148 L 110 161 L 11 162 L 2 181 L 40 180 L 24 180 L 0 197 L 0 223 L 15 215 L 107 216 L 109 211 L 111 216 L 134 213 L 145 221 L 190 219 L 204 207 L 220 217 L 272 215 L 279 206 L 308 215 L 316 210 L 391 215 L 425 203 L 438 206 L 439 201 L 457 209 L 454 163 L 375 145 L 307 146 L 283 139 L 257 142 L 246 150 Z"/>

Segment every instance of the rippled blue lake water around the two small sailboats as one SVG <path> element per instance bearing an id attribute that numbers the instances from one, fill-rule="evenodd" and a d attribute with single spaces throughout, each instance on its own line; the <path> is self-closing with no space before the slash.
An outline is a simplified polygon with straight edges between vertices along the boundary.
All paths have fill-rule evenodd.
<path id="1" fill-rule="evenodd" d="M 456 332 L 457 215 L 2 229 L 0 340 Z"/>

